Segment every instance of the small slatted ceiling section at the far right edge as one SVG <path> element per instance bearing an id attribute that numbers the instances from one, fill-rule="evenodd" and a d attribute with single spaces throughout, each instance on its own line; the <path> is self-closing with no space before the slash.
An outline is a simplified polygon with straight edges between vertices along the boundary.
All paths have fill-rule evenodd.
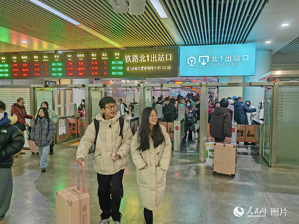
<path id="1" fill-rule="evenodd" d="M 299 64 L 299 37 L 277 51 L 272 57 L 272 64 Z"/>

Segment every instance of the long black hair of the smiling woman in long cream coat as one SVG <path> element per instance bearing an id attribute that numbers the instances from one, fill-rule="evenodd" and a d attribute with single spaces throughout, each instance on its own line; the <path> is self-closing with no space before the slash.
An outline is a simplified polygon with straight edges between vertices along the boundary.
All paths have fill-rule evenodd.
<path id="1" fill-rule="evenodd" d="M 138 129 L 138 135 L 139 135 L 139 142 L 140 145 L 137 150 L 141 150 L 142 152 L 149 149 L 149 115 L 154 110 L 156 113 L 156 109 L 153 107 L 146 107 L 144 108 L 141 116 L 141 125 Z M 154 125 L 152 130 L 152 141 L 154 142 L 154 147 L 158 147 L 158 145 L 162 144 L 164 142 L 164 135 L 162 134 L 162 130 L 160 127 L 159 121 L 156 125 Z"/>

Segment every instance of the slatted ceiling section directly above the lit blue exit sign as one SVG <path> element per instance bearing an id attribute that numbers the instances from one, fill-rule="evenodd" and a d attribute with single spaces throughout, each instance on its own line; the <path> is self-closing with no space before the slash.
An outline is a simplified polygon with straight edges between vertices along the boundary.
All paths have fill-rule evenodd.
<path id="1" fill-rule="evenodd" d="M 184 45 L 244 43 L 267 0 L 161 0 Z"/>

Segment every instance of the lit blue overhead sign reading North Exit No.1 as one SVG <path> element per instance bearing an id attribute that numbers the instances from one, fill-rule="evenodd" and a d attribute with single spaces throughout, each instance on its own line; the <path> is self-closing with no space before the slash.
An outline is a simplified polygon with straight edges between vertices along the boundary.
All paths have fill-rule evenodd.
<path id="1" fill-rule="evenodd" d="M 179 76 L 254 76 L 255 45 L 182 46 Z"/>

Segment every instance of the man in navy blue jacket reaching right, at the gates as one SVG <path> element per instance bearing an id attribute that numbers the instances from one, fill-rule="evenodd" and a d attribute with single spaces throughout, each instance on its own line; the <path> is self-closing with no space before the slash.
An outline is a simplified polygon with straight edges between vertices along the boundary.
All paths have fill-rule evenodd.
<path id="1" fill-rule="evenodd" d="M 256 112 L 256 108 L 249 108 L 243 103 L 241 96 L 237 98 L 237 101 L 234 103 L 234 119 L 237 121 L 238 125 L 249 125 L 247 113 Z"/>

